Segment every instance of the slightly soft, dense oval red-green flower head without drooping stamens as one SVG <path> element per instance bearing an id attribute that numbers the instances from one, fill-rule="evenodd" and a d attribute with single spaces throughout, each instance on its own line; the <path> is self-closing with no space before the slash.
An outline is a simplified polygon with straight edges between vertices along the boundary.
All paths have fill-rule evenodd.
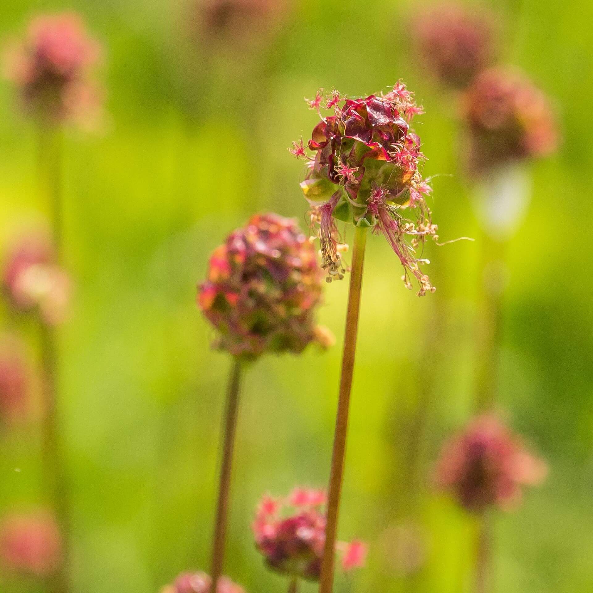
<path id="1" fill-rule="evenodd" d="M 315 247 L 293 219 L 252 216 L 216 248 L 198 304 L 218 330 L 218 346 L 234 356 L 301 352 L 323 345 L 314 323 L 322 272 Z"/>

